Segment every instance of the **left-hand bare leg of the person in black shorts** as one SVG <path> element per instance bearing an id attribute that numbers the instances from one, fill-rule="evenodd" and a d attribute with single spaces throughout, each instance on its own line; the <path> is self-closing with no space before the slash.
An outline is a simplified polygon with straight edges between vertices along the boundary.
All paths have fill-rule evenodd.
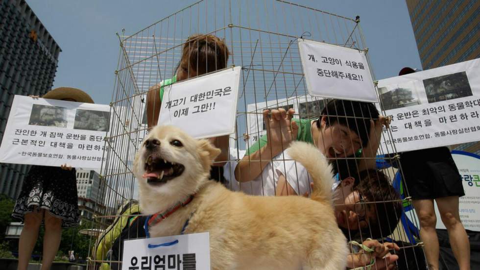
<path id="1" fill-rule="evenodd" d="M 439 246 L 435 225 L 437 222 L 433 199 L 412 200 L 420 221 L 420 239 L 425 244 L 425 256 L 430 270 L 438 270 Z"/>

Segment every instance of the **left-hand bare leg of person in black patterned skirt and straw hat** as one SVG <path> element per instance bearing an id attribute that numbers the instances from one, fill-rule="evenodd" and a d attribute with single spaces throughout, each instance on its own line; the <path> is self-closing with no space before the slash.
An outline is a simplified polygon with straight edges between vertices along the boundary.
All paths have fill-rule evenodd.
<path id="1" fill-rule="evenodd" d="M 41 210 L 42 211 L 42 210 Z M 26 270 L 42 224 L 42 212 L 35 209 L 24 215 L 24 228 L 18 243 L 18 270 Z"/>

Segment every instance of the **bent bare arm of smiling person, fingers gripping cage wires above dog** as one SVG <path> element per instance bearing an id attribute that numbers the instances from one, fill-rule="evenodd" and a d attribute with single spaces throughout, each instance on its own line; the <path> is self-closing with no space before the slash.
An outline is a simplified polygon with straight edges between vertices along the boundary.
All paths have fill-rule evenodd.
<path id="1" fill-rule="evenodd" d="M 273 157 L 285 150 L 291 141 L 296 140 L 298 126 L 291 118 L 295 111 L 289 109 L 272 110 L 271 116 L 269 110 L 264 110 L 264 122 L 266 124 L 266 137 L 261 140 L 266 141 L 265 145 L 255 152 L 250 149 L 247 154 L 239 161 L 235 168 L 235 178 L 239 182 L 248 182 L 257 178 L 265 166 Z"/>

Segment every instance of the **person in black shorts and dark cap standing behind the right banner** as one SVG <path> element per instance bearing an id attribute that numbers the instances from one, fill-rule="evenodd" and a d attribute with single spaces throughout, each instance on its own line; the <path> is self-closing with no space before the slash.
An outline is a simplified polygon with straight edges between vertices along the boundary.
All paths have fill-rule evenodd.
<path id="1" fill-rule="evenodd" d="M 399 75 L 413 73 L 404 68 Z M 470 243 L 460 221 L 458 198 L 464 196 L 460 173 L 448 147 L 434 147 L 400 153 L 408 195 L 420 221 L 420 239 L 431 270 L 438 270 L 439 244 L 435 230 L 437 203 L 450 245 L 460 270 L 470 269 Z"/>

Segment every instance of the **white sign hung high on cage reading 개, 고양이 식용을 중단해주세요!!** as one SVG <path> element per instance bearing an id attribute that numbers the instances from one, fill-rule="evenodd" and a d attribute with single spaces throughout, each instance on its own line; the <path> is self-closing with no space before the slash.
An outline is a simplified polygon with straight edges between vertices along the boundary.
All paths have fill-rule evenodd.
<path id="1" fill-rule="evenodd" d="M 298 39 L 312 96 L 378 102 L 364 51 Z"/>

